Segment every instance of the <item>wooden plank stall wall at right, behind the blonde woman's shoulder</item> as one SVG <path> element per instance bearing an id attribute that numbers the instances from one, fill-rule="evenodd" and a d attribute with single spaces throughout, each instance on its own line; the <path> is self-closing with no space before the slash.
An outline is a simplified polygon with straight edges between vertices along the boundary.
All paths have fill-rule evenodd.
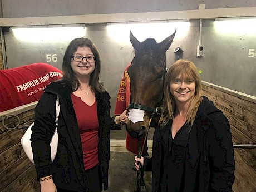
<path id="1" fill-rule="evenodd" d="M 223 87 L 222 87 L 223 88 Z M 225 88 L 223 88 L 225 90 Z M 255 97 L 244 96 L 219 90 L 218 87 L 203 83 L 204 95 L 227 116 L 233 143 L 256 143 L 256 100 Z M 231 91 L 232 92 L 232 91 Z M 248 97 L 248 99 L 246 98 Z M 256 149 L 234 149 L 235 182 L 234 192 L 256 191 Z"/>

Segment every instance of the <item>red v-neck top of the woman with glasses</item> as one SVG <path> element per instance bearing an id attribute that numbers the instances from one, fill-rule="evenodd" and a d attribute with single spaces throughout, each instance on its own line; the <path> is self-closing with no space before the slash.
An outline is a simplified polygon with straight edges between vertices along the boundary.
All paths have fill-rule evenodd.
<path id="1" fill-rule="evenodd" d="M 92 106 L 87 105 L 80 97 L 71 94 L 71 99 L 76 112 L 78 128 L 83 150 L 83 164 L 85 170 L 93 168 L 99 163 L 98 143 L 99 143 L 99 123 L 97 115 L 97 102 Z"/>

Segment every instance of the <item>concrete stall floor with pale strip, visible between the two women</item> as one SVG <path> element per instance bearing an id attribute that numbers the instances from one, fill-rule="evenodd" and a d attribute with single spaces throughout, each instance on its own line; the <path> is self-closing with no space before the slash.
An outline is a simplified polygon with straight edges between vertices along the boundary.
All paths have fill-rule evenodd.
<path id="1" fill-rule="evenodd" d="M 149 154 L 152 155 L 152 135 L 149 130 Z M 137 192 L 137 171 L 134 171 L 134 155 L 125 147 L 126 130 L 111 131 L 109 189 L 107 192 Z M 151 192 L 151 172 L 144 172 L 145 186 L 141 192 Z"/>

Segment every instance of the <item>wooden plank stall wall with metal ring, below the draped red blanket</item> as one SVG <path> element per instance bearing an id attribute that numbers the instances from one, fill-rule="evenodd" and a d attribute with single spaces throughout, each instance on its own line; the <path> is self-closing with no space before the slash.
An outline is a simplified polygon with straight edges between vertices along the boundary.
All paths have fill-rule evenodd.
<path id="1" fill-rule="evenodd" d="M 18 107 L 17 107 L 18 108 Z M 22 107 L 19 107 L 21 109 Z M 13 114 L 12 110 L 6 111 Z M 6 112 L 0 113 L 3 117 Z M 15 115 L 15 111 L 14 111 Z M 34 111 L 30 109 L 16 115 L 21 120 L 20 125 L 30 125 L 33 122 Z M 9 116 L 4 120 L 7 127 L 18 124 L 16 117 Z M 34 164 L 24 153 L 20 139 L 26 130 L 6 129 L 1 120 L 0 124 L 0 191 L 1 192 L 34 192 L 40 191 L 40 183 L 36 180 L 37 174 Z"/>

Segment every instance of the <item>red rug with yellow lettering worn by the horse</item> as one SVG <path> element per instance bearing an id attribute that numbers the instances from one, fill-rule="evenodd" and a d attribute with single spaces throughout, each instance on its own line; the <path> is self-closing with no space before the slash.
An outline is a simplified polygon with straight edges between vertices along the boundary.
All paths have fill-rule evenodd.
<path id="1" fill-rule="evenodd" d="M 127 73 L 127 68 L 131 65 L 127 65 L 124 71 L 124 75 L 122 76 L 119 91 L 117 94 L 116 99 L 116 107 L 114 114 L 120 115 L 124 110 L 127 108 L 127 106 L 130 103 L 130 77 Z M 144 144 L 144 139 L 142 140 L 142 144 Z M 141 151 L 142 151 L 142 144 L 141 144 Z M 131 137 L 128 133 L 126 133 L 126 149 L 133 154 L 137 155 L 138 153 L 138 139 Z"/>

